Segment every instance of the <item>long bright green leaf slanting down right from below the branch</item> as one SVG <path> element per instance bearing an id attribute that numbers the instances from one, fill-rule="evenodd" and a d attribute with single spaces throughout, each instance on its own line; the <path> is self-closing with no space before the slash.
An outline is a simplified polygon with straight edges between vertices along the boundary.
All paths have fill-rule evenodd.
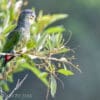
<path id="1" fill-rule="evenodd" d="M 28 55 L 23 54 L 22 59 L 19 59 L 17 61 L 17 69 L 22 68 L 22 69 L 28 69 L 32 73 L 34 73 L 47 87 L 49 87 L 49 83 L 46 77 L 41 77 L 41 71 L 39 68 L 35 67 L 34 62 L 32 61 L 31 58 L 29 58 Z"/>

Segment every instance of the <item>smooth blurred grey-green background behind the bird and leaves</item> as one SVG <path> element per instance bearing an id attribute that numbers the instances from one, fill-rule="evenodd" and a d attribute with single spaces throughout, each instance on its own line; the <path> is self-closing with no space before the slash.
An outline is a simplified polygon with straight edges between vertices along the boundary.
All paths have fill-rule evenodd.
<path id="1" fill-rule="evenodd" d="M 75 71 L 71 77 L 62 77 L 64 89 L 58 82 L 58 90 L 54 99 L 48 100 L 99 100 L 100 98 L 100 0 L 29 0 L 26 8 L 43 10 L 44 14 L 67 13 L 69 17 L 59 21 L 72 32 L 67 44 L 75 50 L 75 63 L 80 65 L 82 73 Z M 68 34 L 64 34 L 65 40 Z M 24 77 L 17 74 L 15 77 Z M 15 86 L 13 84 L 13 86 Z M 12 88 L 13 88 L 12 86 Z M 31 73 L 24 84 L 17 90 L 29 94 L 27 98 L 11 98 L 11 100 L 45 100 L 47 89 L 37 77 Z"/>

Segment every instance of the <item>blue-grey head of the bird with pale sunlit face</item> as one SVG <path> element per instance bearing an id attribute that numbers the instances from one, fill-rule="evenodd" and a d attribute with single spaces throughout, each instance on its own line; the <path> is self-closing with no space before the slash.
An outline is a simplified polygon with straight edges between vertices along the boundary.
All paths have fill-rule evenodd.
<path id="1" fill-rule="evenodd" d="M 35 18 L 36 18 L 35 11 L 32 11 L 30 9 L 25 9 L 21 12 L 18 19 L 18 23 L 31 25 L 35 21 Z"/>

